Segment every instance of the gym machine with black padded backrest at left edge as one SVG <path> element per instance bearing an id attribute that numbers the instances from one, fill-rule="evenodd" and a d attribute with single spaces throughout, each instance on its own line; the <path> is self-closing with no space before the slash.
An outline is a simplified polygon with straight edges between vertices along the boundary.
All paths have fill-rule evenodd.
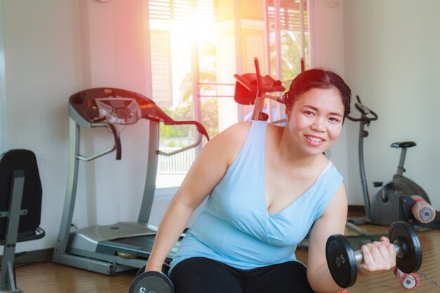
<path id="1" fill-rule="evenodd" d="M 37 240 L 46 232 L 39 227 L 43 190 L 37 157 L 31 150 L 13 149 L 0 155 L 0 292 L 19 293 L 15 280 L 18 242 Z"/>

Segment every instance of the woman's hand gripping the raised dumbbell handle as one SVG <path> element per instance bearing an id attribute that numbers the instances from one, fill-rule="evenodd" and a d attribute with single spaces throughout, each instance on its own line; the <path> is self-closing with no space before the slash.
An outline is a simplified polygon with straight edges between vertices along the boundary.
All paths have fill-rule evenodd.
<path id="1" fill-rule="evenodd" d="M 381 237 L 380 242 L 363 245 L 361 250 L 363 263 L 358 265 L 361 273 L 387 271 L 396 266 L 396 247 L 387 237 Z"/>

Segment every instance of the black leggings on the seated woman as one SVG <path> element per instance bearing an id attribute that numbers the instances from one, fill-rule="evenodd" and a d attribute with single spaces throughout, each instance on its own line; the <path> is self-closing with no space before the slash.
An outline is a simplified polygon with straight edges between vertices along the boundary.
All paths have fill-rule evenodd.
<path id="1" fill-rule="evenodd" d="M 306 267 L 297 261 L 240 270 L 194 257 L 178 263 L 170 278 L 176 293 L 309 293 Z"/>

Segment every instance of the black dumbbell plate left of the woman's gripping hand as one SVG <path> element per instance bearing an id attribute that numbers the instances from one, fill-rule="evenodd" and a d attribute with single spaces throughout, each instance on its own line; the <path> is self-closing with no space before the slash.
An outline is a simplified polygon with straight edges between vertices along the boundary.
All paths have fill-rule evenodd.
<path id="1" fill-rule="evenodd" d="M 339 287 L 347 288 L 356 282 L 358 267 L 349 240 L 343 235 L 331 235 L 325 245 L 330 273 Z"/>

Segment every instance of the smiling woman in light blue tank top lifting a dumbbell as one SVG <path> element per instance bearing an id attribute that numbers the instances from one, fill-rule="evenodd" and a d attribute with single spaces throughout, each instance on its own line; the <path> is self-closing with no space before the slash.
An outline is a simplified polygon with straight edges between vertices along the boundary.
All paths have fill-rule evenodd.
<path id="1" fill-rule="evenodd" d="M 350 97 L 334 72 L 307 70 L 283 96 L 285 127 L 241 122 L 209 141 L 164 214 L 145 271 L 161 270 L 207 199 L 171 263 L 176 293 L 340 291 L 325 242 L 344 233 L 347 197 L 323 153 L 342 131 Z M 310 229 L 306 268 L 295 248 Z M 385 238 L 362 251 L 361 273 L 395 265 Z"/>

